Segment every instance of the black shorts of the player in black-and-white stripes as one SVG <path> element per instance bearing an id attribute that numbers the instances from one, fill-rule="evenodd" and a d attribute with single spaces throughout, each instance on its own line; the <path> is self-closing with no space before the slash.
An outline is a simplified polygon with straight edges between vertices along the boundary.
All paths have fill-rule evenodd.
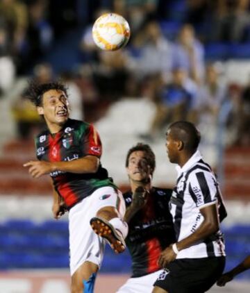
<path id="1" fill-rule="evenodd" d="M 224 267 L 224 256 L 174 260 L 160 274 L 154 286 L 169 293 L 203 293 L 222 275 Z"/>

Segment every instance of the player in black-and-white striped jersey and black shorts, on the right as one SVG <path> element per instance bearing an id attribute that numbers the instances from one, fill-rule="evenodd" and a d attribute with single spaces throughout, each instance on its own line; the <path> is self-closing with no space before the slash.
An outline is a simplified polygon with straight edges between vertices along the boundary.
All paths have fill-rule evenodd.
<path id="1" fill-rule="evenodd" d="M 222 275 L 224 241 L 219 221 L 226 209 L 217 179 L 198 150 L 200 133 L 190 122 L 175 122 L 167 130 L 167 154 L 176 163 L 178 179 L 170 212 L 176 243 L 161 253 L 165 271 L 153 293 L 203 293 Z"/>

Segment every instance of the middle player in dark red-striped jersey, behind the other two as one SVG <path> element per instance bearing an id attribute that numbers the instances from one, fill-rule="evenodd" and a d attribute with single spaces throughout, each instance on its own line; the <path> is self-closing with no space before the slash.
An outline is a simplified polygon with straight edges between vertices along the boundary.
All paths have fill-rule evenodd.
<path id="1" fill-rule="evenodd" d="M 169 199 L 172 190 L 153 187 L 156 158 L 148 144 L 138 143 L 126 156 L 131 191 L 124 194 L 128 222 L 126 245 L 133 274 L 117 293 L 149 293 L 160 273 L 160 253 L 175 242 Z"/>

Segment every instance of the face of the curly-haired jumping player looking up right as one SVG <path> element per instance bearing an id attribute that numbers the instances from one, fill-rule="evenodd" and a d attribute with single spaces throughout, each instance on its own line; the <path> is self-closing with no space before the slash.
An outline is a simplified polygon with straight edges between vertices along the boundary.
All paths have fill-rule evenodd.
<path id="1" fill-rule="evenodd" d="M 42 96 L 42 106 L 38 113 L 44 115 L 49 128 L 63 126 L 69 118 L 69 102 L 65 92 L 61 90 L 48 90 Z"/>

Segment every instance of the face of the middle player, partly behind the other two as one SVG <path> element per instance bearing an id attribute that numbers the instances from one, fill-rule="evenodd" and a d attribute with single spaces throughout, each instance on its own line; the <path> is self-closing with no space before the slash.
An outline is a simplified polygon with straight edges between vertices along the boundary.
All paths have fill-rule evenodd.
<path id="1" fill-rule="evenodd" d="M 128 177 L 132 181 L 145 181 L 145 179 L 151 177 L 151 168 L 144 151 L 134 151 L 131 153 L 126 170 Z"/>

